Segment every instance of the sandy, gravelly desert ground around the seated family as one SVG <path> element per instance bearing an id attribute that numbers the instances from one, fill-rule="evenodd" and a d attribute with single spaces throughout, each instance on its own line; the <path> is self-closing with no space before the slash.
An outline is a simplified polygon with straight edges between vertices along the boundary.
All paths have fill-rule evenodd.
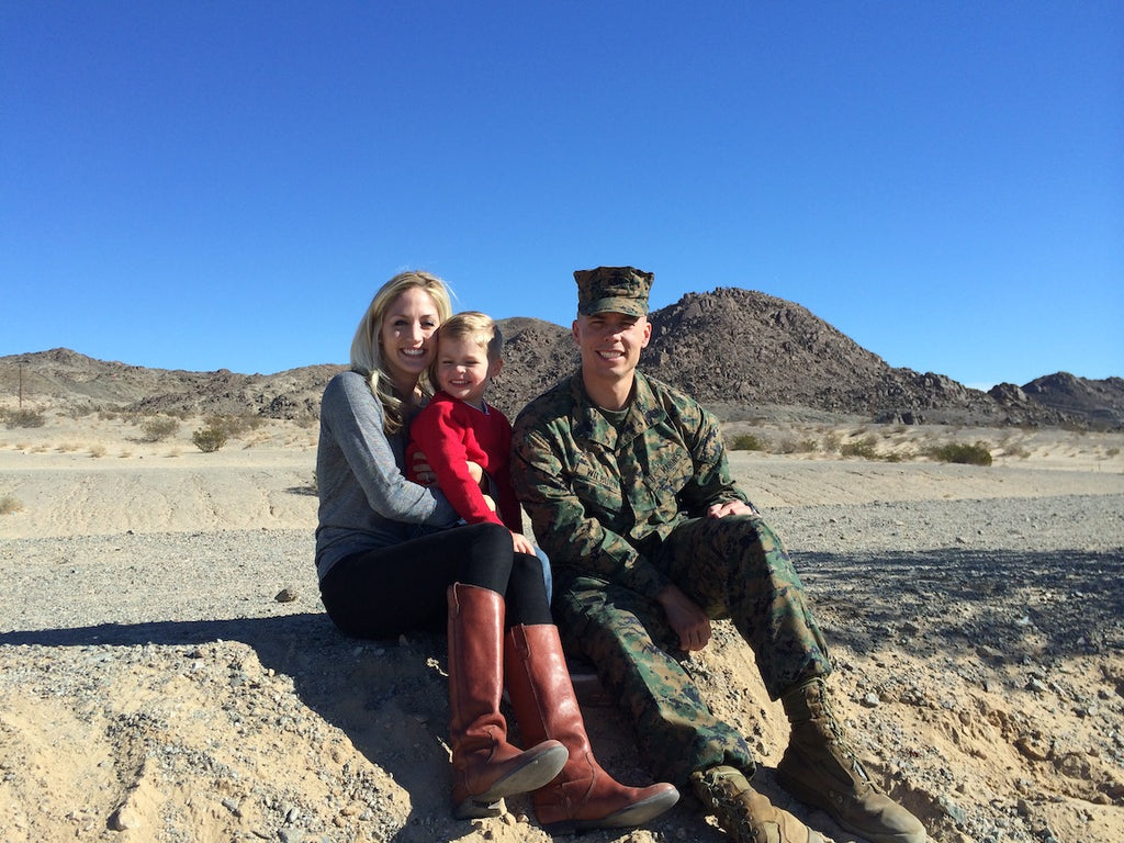
<path id="1" fill-rule="evenodd" d="M 552 840 L 448 813 L 444 642 L 343 637 L 312 568 L 312 424 L 203 453 L 115 414 L 0 428 L 0 840 Z M 935 841 L 1124 840 L 1124 435 L 740 423 L 871 774 Z M 926 457 L 982 442 L 990 466 Z M 876 459 L 844 457 L 868 442 Z M 777 788 L 787 727 L 726 622 L 688 662 Z M 601 763 L 649 780 L 581 677 Z M 720 843 L 689 799 L 583 843 Z"/>

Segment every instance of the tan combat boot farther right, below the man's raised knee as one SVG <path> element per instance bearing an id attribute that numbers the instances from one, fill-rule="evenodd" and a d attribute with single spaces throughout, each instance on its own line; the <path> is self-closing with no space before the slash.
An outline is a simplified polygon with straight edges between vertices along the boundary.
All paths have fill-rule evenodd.
<path id="1" fill-rule="evenodd" d="M 780 786 L 871 843 L 925 843 L 921 821 L 883 794 L 862 768 L 828 706 L 824 681 L 813 679 L 781 699 L 792 736 L 777 765 Z"/>

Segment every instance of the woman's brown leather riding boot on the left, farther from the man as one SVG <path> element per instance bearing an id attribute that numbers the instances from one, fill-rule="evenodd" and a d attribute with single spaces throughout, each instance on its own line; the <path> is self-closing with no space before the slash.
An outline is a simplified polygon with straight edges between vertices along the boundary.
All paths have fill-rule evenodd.
<path id="1" fill-rule="evenodd" d="M 504 691 L 504 598 L 487 588 L 448 587 L 448 709 L 453 815 L 498 816 L 500 799 L 542 787 L 566 760 L 558 741 L 527 751 L 507 742 Z"/>

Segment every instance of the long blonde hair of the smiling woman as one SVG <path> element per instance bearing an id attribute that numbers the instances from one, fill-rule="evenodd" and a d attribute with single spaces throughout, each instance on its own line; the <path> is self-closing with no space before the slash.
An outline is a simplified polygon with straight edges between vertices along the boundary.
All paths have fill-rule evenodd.
<path id="1" fill-rule="evenodd" d="M 399 296 L 415 287 L 429 293 L 429 298 L 433 299 L 433 303 L 437 308 L 438 324 L 446 321 L 453 312 L 453 305 L 445 282 L 428 272 L 416 270 L 399 272 L 374 293 L 374 298 L 371 299 L 366 312 L 363 314 L 363 318 L 360 319 L 359 327 L 355 329 L 355 337 L 352 339 L 351 368 L 368 379 L 371 392 L 382 404 L 386 416 L 383 429 L 388 435 L 398 433 L 406 419 L 402 399 L 395 395 L 393 382 L 383 363 L 379 341 L 387 310 Z M 419 386 L 423 393 L 432 392 L 428 383 Z"/>

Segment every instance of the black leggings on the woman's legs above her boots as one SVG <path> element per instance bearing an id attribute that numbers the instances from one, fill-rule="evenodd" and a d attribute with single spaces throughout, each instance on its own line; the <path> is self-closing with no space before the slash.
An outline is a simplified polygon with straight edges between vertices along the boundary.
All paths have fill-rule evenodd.
<path id="1" fill-rule="evenodd" d="M 443 629 L 445 592 L 454 582 L 504 595 L 505 627 L 552 624 L 537 556 L 516 553 L 498 524 L 432 533 L 337 562 L 320 581 L 328 617 L 360 638 L 390 638 L 411 629 Z"/>

